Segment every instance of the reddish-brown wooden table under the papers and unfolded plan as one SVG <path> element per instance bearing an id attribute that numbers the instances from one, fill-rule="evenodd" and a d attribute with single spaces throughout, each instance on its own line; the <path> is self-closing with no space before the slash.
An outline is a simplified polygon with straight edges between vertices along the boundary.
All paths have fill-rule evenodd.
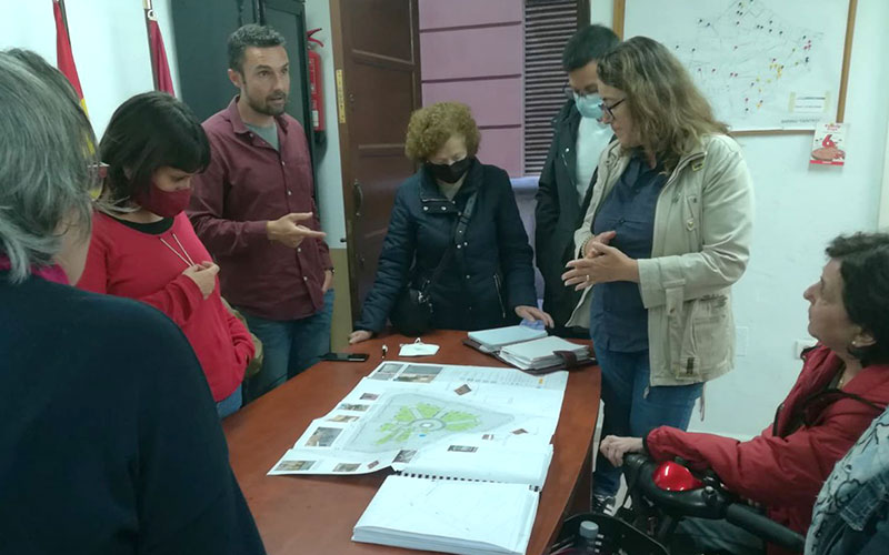
<path id="1" fill-rule="evenodd" d="M 410 360 L 506 366 L 462 345 L 463 337 L 466 332 L 430 333 L 423 341 L 440 345 L 438 354 Z M 383 344 L 387 360 L 407 360 L 398 357 L 398 350 L 410 341 L 388 335 L 353 345 L 351 352 L 368 353 L 370 359 L 363 363 L 321 362 L 223 422 L 231 466 L 269 554 L 428 553 L 351 541 L 352 527 L 391 471 L 361 476 L 266 475 L 312 420 L 327 414 L 377 367 Z M 548 553 L 566 514 L 589 507 L 590 447 L 598 410 L 599 367 L 571 372 L 528 555 Z"/>

